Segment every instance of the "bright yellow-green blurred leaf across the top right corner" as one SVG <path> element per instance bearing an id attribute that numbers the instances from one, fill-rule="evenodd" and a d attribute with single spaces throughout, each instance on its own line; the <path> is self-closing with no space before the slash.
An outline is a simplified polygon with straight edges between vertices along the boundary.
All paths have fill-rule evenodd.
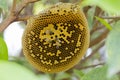
<path id="1" fill-rule="evenodd" d="M 96 5 L 108 13 L 120 13 L 120 0 L 84 0 L 82 6 Z"/>

